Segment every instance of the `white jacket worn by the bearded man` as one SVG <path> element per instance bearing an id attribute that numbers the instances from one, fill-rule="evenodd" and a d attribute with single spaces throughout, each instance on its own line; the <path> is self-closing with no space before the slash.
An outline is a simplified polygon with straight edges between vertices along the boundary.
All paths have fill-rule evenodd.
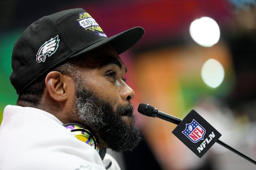
<path id="1" fill-rule="evenodd" d="M 7 105 L 0 125 L 0 170 L 120 170 L 45 111 Z"/>

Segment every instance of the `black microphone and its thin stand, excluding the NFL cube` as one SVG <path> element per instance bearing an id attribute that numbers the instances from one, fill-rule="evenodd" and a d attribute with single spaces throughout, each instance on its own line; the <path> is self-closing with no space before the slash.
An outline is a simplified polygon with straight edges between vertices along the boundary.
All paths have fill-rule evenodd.
<path id="1" fill-rule="evenodd" d="M 138 112 L 149 117 L 158 117 L 160 119 L 166 120 L 168 122 L 172 122 L 176 125 L 179 125 L 180 122 L 183 120 L 180 118 L 177 118 L 175 116 L 171 116 L 167 113 L 163 113 L 161 111 L 158 111 L 157 108 L 154 108 L 151 105 L 140 103 L 138 107 Z M 219 139 L 216 141 L 218 144 L 222 145 L 223 147 L 226 147 L 228 150 L 232 151 L 233 153 L 236 153 L 237 155 L 241 156 L 242 158 L 246 159 L 247 161 L 250 161 L 253 164 L 256 164 L 256 161 L 251 159 L 250 157 L 244 155 L 243 153 L 239 152 L 238 150 L 234 149 L 233 147 L 230 147 L 229 145 L 225 144 L 224 142 L 221 142 Z M 191 149 L 191 148 L 190 148 Z"/>

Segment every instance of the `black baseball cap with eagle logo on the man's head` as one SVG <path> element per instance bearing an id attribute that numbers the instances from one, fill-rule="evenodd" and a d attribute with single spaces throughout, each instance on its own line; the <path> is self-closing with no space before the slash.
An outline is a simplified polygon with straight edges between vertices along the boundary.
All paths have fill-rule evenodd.
<path id="1" fill-rule="evenodd" d="M 44 16 L 32 23 L 15 42 L 12 52 L 12 85 L 20 94 L 25 88 L 67 59 L 81 57 L 110 43 L 118 54 L 134 45 L 144 34 L 134 27 L 107 37 L 83 8 Z"/>

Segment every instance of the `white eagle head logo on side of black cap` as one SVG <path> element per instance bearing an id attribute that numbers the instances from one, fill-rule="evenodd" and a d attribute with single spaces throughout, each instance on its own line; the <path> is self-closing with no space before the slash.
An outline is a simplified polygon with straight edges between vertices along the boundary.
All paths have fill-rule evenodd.
<path id="1" fill-rule="evenodd" d="M 50 57 L 58 49 L 59 43 L 58 35 L 50 40 L 44 42 L 44 44 L 39 48 L 38 53 L 36 54 L 36 61 L 38 63 L 44 62 L 46 56 Z"/>

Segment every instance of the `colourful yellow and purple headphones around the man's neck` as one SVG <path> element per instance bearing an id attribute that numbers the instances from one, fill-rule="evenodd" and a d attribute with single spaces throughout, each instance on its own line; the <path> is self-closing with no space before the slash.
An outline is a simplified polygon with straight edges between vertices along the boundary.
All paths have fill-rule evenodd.
<path id="1" fill-rule="evenodd" d="M 100 147 L 99 140 L 88 127 L 81 125 L 79 123 L 67 123 L 63 126 L 69 129 L 70 132 L 74 136 L 76 136 L 77 139 L 93 147 L 99 153 L 99 156 L 103 160 L 106 154 L 106 149 Z"/>

